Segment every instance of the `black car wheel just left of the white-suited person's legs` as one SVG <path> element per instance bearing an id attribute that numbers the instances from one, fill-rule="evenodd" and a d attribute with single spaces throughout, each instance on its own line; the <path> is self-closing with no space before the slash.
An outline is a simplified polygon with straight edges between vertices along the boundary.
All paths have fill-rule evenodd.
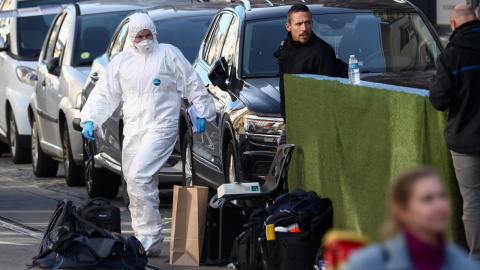
<path id="1" fill-rule="evenodd" d="M 119 175 L 104 168 L 95 168 L 93 142 L 83 141 L 83 170 L 88 196 L 114 199 L 118 194 Z"/>

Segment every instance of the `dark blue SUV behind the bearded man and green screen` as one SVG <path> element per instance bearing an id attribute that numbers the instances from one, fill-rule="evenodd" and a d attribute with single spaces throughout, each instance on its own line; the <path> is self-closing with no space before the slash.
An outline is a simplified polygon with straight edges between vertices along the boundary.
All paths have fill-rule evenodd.
<path id="1" fill-rule="evenodd" d="M 428 89 L 442 46 L 408 1 L 310 2 L 317 3 L 308 5 L 313 31 L 344 62 L 354 54 L 362 80 Z M 184 171 L 193 173 L 193 184 L 217 188 L 225 182 L 261 182 L 268 174 L 283 126 L 272 54 L 287 34 L 289 9 L 283 2 L 241 1 L 215 16 L 194 66 L 209 85 L 217 118 L 193 135 L 185 110 L 180 121 L 184 166 L 192 165 Z"/>

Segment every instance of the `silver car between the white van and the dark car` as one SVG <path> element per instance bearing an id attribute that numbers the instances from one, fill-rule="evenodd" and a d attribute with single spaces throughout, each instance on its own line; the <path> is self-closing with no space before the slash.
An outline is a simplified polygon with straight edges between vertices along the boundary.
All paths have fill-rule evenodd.
<path id="1" fill-rule="evenodd" d="M 55 176 L 58 161 L 63 161 L 67 185 L 84 183 L 82 135 L 72 127 L 72 119 L 80 115 L 82 87 L 118 23 L 148 6 L 141 1 L 88 1 L 69 4 L 56 16 L 40 52 L 28 107 L 36 176 Z"/>

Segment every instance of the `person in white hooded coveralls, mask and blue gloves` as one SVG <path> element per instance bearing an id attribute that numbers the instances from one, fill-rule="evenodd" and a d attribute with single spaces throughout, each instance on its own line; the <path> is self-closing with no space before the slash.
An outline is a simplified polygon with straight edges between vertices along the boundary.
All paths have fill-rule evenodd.
<path id="1" fill-rule="evenodd" d="M 133 48 L 112 59 L 81 111 L 82 134 L 93 139 L 93 129 L 101 127 L 123 101 L 122 170 L 132 227 L 148 256 L 161 252 L 158 177 L 153 176 L 173 151 L 181 95 L 196 108 L 197 132 L 205 129 L 205 120 L 215 118 L 213 99 L 200 76 L 180 50 L 158 44 L 156 36 L 147 14 L 133 15 L 128 27 Z"/>

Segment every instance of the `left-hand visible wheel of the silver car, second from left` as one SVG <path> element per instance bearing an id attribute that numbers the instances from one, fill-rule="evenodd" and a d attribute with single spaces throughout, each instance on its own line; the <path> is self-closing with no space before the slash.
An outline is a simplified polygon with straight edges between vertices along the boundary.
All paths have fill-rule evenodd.
<path id="1" fill-rule="evenodd" d="M 54 177 L 58 171 L 58 161 L 46 155 L 40 145 L 38 126 L 32 122 L 32 168 L 36 177 Z"/>

